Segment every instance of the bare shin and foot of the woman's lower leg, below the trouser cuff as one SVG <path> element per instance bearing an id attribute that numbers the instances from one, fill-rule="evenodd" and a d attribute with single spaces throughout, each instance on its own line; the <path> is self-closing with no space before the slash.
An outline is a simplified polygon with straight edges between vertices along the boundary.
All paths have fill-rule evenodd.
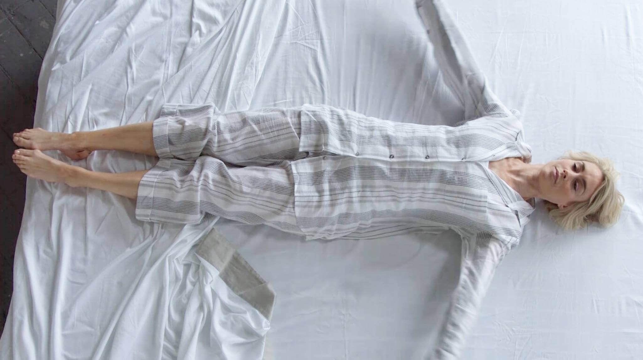
<path id="1" fill-rule="evenodd" d="M 15 164 L 27 176 L 48 182 L 64 182 L 72 187 L 91 187 L 136 199 L 138 184 L 147 170 L 127 173 L 100 173 L 65 164 L 40 150 L 15 150 Z"/>

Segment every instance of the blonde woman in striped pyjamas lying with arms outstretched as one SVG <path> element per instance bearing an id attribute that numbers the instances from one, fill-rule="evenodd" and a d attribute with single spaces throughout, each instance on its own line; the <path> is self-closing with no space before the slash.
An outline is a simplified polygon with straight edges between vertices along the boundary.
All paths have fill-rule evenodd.
<path id="1" fill-rule="evenodd" d="M 518 112 L 491 92 L 442 4 L 424 1 L 418 10 L 444 80 L 464 106 L 460 126 L 386 121 L 325 105 L 223 114 L 211 105 L 168 105 L 148 123 L 16 133 L 24 149 L 14 162 L 34 178 L 136 198 L 141 220 L 187 223 L 209 212 L 307 239 L 455 230 L 464 240 L 460 279 L 435 358 L 457 357 L 535 198 L 563 228 L 611 225 L 623 198 L 609 160 L 581 152 L 530 164 Z M 125 150 L 159 162 L 146 171 L 97 173 L 40 150 L 72 159 Z"/>

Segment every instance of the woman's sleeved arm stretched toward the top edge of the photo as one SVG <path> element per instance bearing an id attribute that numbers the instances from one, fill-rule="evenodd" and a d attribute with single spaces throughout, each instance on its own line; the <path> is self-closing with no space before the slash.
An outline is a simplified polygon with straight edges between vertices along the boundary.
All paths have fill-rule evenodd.
<path id="1" fill-rule="evenodd" d="M 464 119 L 512 116 L 489 88 L 487 79 L 442 1 L 417 0 L 417 11 L 435 48 L 444 81 L 464 106 Z"/>

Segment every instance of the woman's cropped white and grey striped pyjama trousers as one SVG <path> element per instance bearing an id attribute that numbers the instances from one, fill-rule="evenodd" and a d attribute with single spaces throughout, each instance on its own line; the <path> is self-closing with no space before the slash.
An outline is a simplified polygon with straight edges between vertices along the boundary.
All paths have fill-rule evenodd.
<path id="1" fill-rule="evenodd" d="M 309 156 L 299 151 L 300 110 L 165 106 L 152 134 L 159 161 L 139 184 L 137 219 L 194 223 L 209 213 L 303 235 L 290 166 Z"/>

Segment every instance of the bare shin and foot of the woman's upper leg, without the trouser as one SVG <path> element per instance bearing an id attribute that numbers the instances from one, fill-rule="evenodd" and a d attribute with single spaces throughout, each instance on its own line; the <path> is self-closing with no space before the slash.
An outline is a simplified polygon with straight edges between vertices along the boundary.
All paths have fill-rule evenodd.
<path id="1" fill-rule="evenodd" d="M 94 150 L 123 150 L 157 156 L 152 141 L 152 121 L 93 132 L 59 133 L 41 128 L 14 133 L 14 142 L 32 150 L 60 150 L 74 160 Z"/>

